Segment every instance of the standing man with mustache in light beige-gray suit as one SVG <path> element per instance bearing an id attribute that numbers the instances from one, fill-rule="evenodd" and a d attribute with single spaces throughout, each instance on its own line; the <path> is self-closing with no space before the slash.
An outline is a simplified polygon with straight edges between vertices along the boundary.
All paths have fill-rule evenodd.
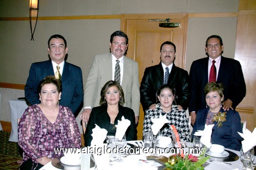
<path id="1" fill-rule="evenodd" d="M 84 110 L 80 114 L 80 118 L 86 124 L 92 108 L 99 106 L 101 88 L 106 82 L 114 80 L 117 60 L 120 65 L 120 85 L 125 98 L 123 106 L 133 109 L 137 124 L 140 107 L 139 70 L 136 61 L 124 56 L 127 46 L 127 35 L 122 31 L 116 31 L 110 37 L 111 53 L 94 57 L 84 90 Z"/>

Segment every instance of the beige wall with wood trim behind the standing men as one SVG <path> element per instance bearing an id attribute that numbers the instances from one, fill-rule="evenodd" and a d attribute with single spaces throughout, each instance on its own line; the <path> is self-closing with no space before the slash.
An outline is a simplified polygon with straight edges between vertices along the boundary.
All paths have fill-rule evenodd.
<path id="1" fill-rule="evenodd" d="M 35 41 L 30 41 L 28 0 L 0 1 L 0 82 L 26 84 L 32 62 L 48 60 L 47 41 L 53 34 L 61 34 L 68 43 L 68 62 L 82 68 L 83 83 L 94 55 L 109 52 L 110 35 L 120 30 L 119 14 L 146 13 L 230 13 L 238 12 L 239 0 L 44 0 L 39 1 L 39 17 Z M 51 16 L 102 15 L 100 19 L 48 20 Z M 109 18 L 104 19 L 111 15 Z M 188 20 L 186 67 L 205 57 L 205 40 L 212 34 L 222 36 L 224 56 L 234 58 L 237 17 L 191 15 Z M 8 18 L 10 17 L 10 18 Z M 91 17 L 93 18 L 93 17 Z M 154 42 L 152 42 L 154 43 Z M 129 51 L 128 51 L 129 53 Z M 2 90 L 0 120 L 10 122 L 9 90 Z M 3 91 L 4 90 L 4 91 Z M 11 98 L 23 97 L 23 91 L 11 90 Z M 23 95 L 23 96 L 21 96 Z M 3 106 L 3 101 L 7 105 Z M 5 108 L 5 109 L 4 109 Z M 4 110 L 3 110 L 4 109 Z M 5 116 L 3 116 L 3 114 Z"/>

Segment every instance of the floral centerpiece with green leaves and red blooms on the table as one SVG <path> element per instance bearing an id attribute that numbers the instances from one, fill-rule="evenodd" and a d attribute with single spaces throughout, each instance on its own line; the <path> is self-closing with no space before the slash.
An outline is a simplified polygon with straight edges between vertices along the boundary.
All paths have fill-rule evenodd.
<path id="1" fill-rule="evenodd" d="M 177 169 L 177 170 L 203 170 L 202 166 L 210 157 L 204 157 L 204 154 L 200 156 L 194 156 L 191 154 L 184 155 L 181 154 L 171 155 L 168 158 L 168 162 L 165 163 L 165 169 Z"/>

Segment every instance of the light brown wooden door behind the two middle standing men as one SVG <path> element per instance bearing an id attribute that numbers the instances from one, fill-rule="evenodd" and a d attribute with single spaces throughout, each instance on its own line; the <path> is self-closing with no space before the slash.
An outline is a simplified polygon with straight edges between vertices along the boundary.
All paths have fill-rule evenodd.
<path id="1" fill-rule="evenodd" d="M 161 28 L 159 22 L 148 19 L 171 18 L 170 22 L 180 22 L 179 28 Z M 184 68 L 185 39 L 187 28 L 186 14 L 145 14 L 124 15 L 122 30 L 129 38 L 126 56 L 137 61 L 139 65 L 139 82 L 146 67 L 157 65 L 160 62 L 160 46 L 165 41 L 172 41 L 176 45 L 175 65 Z M 142 139 L 144 112 L 140 106 L 138 123 L 138 139 Z"/>

